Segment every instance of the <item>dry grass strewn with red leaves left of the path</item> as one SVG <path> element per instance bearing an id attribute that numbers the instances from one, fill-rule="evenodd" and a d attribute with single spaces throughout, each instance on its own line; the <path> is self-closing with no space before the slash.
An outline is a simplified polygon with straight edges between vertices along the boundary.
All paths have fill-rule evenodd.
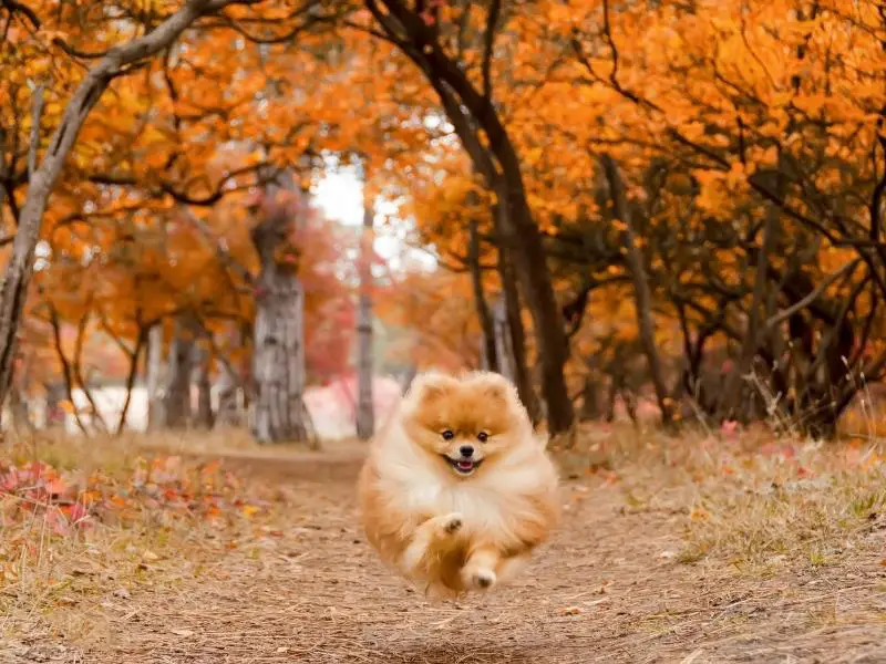
<path id="1" fill-rule="evenodd" d="M 0 640 L 35 625 L 85 637 L 104 626 L 84 612 L 138 589 L 169 591 L 241 541 L 275 531 L 285 494 L 243 487 L 207 466 L 202 455 L 213 444 L 255 453 L 243 434 L 8 440 L 0 478 L 2 461 L 47 464 L 90 513 L 70 526 L 54 500 L 29 497 L 27 486 L 0 492 Z M 60 531 L 60 522 L 70 527 Z"/>

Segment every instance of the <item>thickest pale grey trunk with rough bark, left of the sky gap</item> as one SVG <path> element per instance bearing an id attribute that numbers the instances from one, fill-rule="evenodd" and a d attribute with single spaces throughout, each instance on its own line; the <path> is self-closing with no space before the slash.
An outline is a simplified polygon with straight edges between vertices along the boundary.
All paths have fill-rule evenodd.
<path id="1" fill-rule="evenodd" d="M 274 197 L 268 187 L 266 198 Z M 253 228 L 261 271 L 256 297 L 253 381 L 253 435 L 259 443 L 308 442 L 309 415 L 303 402 L 305 294 L 297 264 L 278 262 L 297 211 L 268 206 Z M 270 209 L 272 208 L 272 209 Z"/>

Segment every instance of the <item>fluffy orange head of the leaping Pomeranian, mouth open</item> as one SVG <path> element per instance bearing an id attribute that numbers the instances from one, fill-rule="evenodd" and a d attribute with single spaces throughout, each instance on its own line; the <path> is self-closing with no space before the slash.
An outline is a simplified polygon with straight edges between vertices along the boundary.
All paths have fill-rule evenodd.
<path id="1" fill-rule="evenodd" d="M 405 397 L 410 439 L 466 478 L 527 439 L 532 424 L 514 385 L 499 374 L 418 376 Z"/>

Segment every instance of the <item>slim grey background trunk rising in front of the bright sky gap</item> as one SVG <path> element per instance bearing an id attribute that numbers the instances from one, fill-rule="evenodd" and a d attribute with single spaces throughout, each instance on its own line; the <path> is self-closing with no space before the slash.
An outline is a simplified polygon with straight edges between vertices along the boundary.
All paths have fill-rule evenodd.
<path id="1" fill-rule="evenodd" d="M 372 400 L 372 201 L 363 184 L 363 235 L 360 241 L 360 302 L 357 311 L 358 396 L 357 437 L 369 440 L 375 429 L 375 411 Z"/>

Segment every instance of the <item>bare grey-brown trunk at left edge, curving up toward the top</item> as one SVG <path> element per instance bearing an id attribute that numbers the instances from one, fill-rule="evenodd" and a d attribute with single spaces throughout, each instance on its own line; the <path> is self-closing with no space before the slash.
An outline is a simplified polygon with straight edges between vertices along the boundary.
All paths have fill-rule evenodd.
<path id="1" fill-rule="evenodd" d="M 37 166 L 38 148 L 32 138 L 32 156 L 29 159 L 32 168 L 29 174 L 28 194 L 19 215 L 12 255 L 0 287 L 0 404 L 6 401 L 12 378 L 17 334 L 31 280 L 34 249 L 43 225 L 43 212 L 81 126 L 115 76 L 126 66 L 168 48 L 207 10 L 220 9 L 220 7 L 210 8 L 210 4 L 213 4 L 210 0 L 190 0 L 147 34 L 111 49 L 107 55 L 99 60 L 89 70 L 65 106 L 61 123 L 50 139 L 43 160 L 37 168 L 33 167 Z M 42 106 L 42 100 L 34 100 L 34 106 L 38 105 Z M 34 116 L 35 124 L 39 125 L 39 113 L 35 112 Z M 40 132 L 33 132 L 33 136 L 39 139 Z"/>

